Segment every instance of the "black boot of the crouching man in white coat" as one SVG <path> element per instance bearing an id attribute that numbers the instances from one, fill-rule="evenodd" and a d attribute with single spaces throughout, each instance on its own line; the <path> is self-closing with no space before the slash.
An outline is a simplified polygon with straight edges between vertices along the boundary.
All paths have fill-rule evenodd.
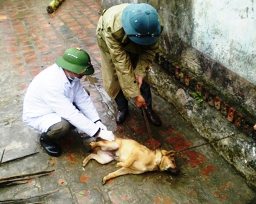
<path id="1" fill-rule="evenodd" d="M 53 143 L 50 140 L 47 140 L 47 138 L 45 138 L 44 136 L 41 136 L 39 141 L 48 155 L 55 157 L 61 156 L 61 148 L 59 147 L 59 145 Z"/>

